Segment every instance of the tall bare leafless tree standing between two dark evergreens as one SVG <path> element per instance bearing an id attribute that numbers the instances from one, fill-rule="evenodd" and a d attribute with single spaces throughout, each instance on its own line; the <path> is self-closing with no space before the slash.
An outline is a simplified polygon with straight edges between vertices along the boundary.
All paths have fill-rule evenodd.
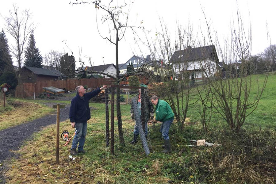
<path id="1" fill-rule="evenodd" d="M 6 31 L 14 38 L 15 42 L 10 47 L 13 56 L 17 59 L 19 69 L 22 64 L 22 54 L 25 49 L 25 43 L 34 29 L 34 23 L 31 20 L 32 13 L 29 10 L 19 11 L 13 4 L 13 10 L 10 10 L 10 16 L 3 17 L 6 22 Z"/>

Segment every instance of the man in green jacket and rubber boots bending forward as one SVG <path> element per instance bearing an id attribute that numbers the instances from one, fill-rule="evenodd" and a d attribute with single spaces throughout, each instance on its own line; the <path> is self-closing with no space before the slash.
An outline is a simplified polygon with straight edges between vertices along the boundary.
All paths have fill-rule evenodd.
<path id="1" fill-rule="evenodd" d="M 164 100 L 159 100 L 157 96 L 151 97 L 151 103 L 155 105 L 155 122 L 161 121 L 162 125 L 160 127 L 160 133 L 165 142 L 165 150 L 163 153 L 171 152 L 171 143 L 169 139 L 169 130 L 171 123 L 174 120 L 174 113 L 171 106 Z"/>

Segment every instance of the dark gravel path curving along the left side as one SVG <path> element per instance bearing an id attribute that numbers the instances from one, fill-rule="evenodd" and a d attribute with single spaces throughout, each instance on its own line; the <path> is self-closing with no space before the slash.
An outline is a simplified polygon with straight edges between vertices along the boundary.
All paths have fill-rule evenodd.
<path id="1" fill-rule="evenodd" d="M 50 103 L 47 105 L 51 105 Z M 69 108 L 70 105 L 65 105 L 64 109 L 60 109 L 60 121 L 65 121 L 69 118 Z M 20 114 L 18 114 L 18 116 L 20 116 Z M 26 140 L 29 140 L 30 136 L 34 132 L 39 132 L 43 127 L 52 124 L 56 124 L 56 114 L 41 117 L 34 121 L 29 121 L 24 124 L 0 131 L 0 163 L 3 164 L 0 167 L 0 184 L 6 183 L 4 174 L 7 169 L 9 169 L 9 167 L 5 164 L 5 161 L 12 157 L 17 157 L 17 155 L 12 153 L 10 150 L 18 150 L 22 143 Z"/>

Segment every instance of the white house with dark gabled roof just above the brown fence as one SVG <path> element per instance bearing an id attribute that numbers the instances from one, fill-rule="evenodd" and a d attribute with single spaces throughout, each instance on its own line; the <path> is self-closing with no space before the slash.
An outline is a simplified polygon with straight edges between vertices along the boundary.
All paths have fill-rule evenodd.
<path id="1" fill-rule="evenodd" d="M 82 70 L 84 70 L 86 67 L 82 67 Z M 78 68 L 78 70 L 80 71 L 81 68 Z M 114 64 L 105 64 L 105 65 L 98 65 L 98 66 L 92 66 L 92 67 L 87 67 L 87 75 L 100 75 L 102 77 L 106 77 L 109 78 L 109 76 L 104 75 L 104 74 L 99 74 L 99 73 L 93 73 L 94 72 L 103 72 L 105 74 L 109 74 L 112 76 L 116 76 L 116 66 Z"/>

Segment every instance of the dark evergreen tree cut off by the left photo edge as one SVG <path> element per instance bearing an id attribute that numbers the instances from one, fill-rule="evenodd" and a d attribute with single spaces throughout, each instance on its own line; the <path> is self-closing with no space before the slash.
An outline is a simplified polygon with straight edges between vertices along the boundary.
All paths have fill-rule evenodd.
<path id="1" fill-rule="evenodd" d="M 13 72 L 13 62 L 10 55 L 8 39 L 2 29 L 0 33 L 0 76 L 4 72 Z"/>

